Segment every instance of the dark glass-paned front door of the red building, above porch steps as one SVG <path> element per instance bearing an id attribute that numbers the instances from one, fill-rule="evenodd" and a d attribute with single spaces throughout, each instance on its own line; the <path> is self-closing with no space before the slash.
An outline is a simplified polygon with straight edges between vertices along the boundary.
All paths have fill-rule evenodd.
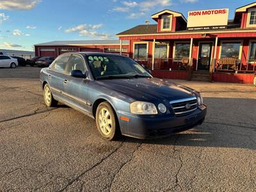
<path id="1" fill-rule="evenodd" d="M 212 57 L 212 43 L 200 43 L 198 52 L 198 70 L 209 70 Z"/>

